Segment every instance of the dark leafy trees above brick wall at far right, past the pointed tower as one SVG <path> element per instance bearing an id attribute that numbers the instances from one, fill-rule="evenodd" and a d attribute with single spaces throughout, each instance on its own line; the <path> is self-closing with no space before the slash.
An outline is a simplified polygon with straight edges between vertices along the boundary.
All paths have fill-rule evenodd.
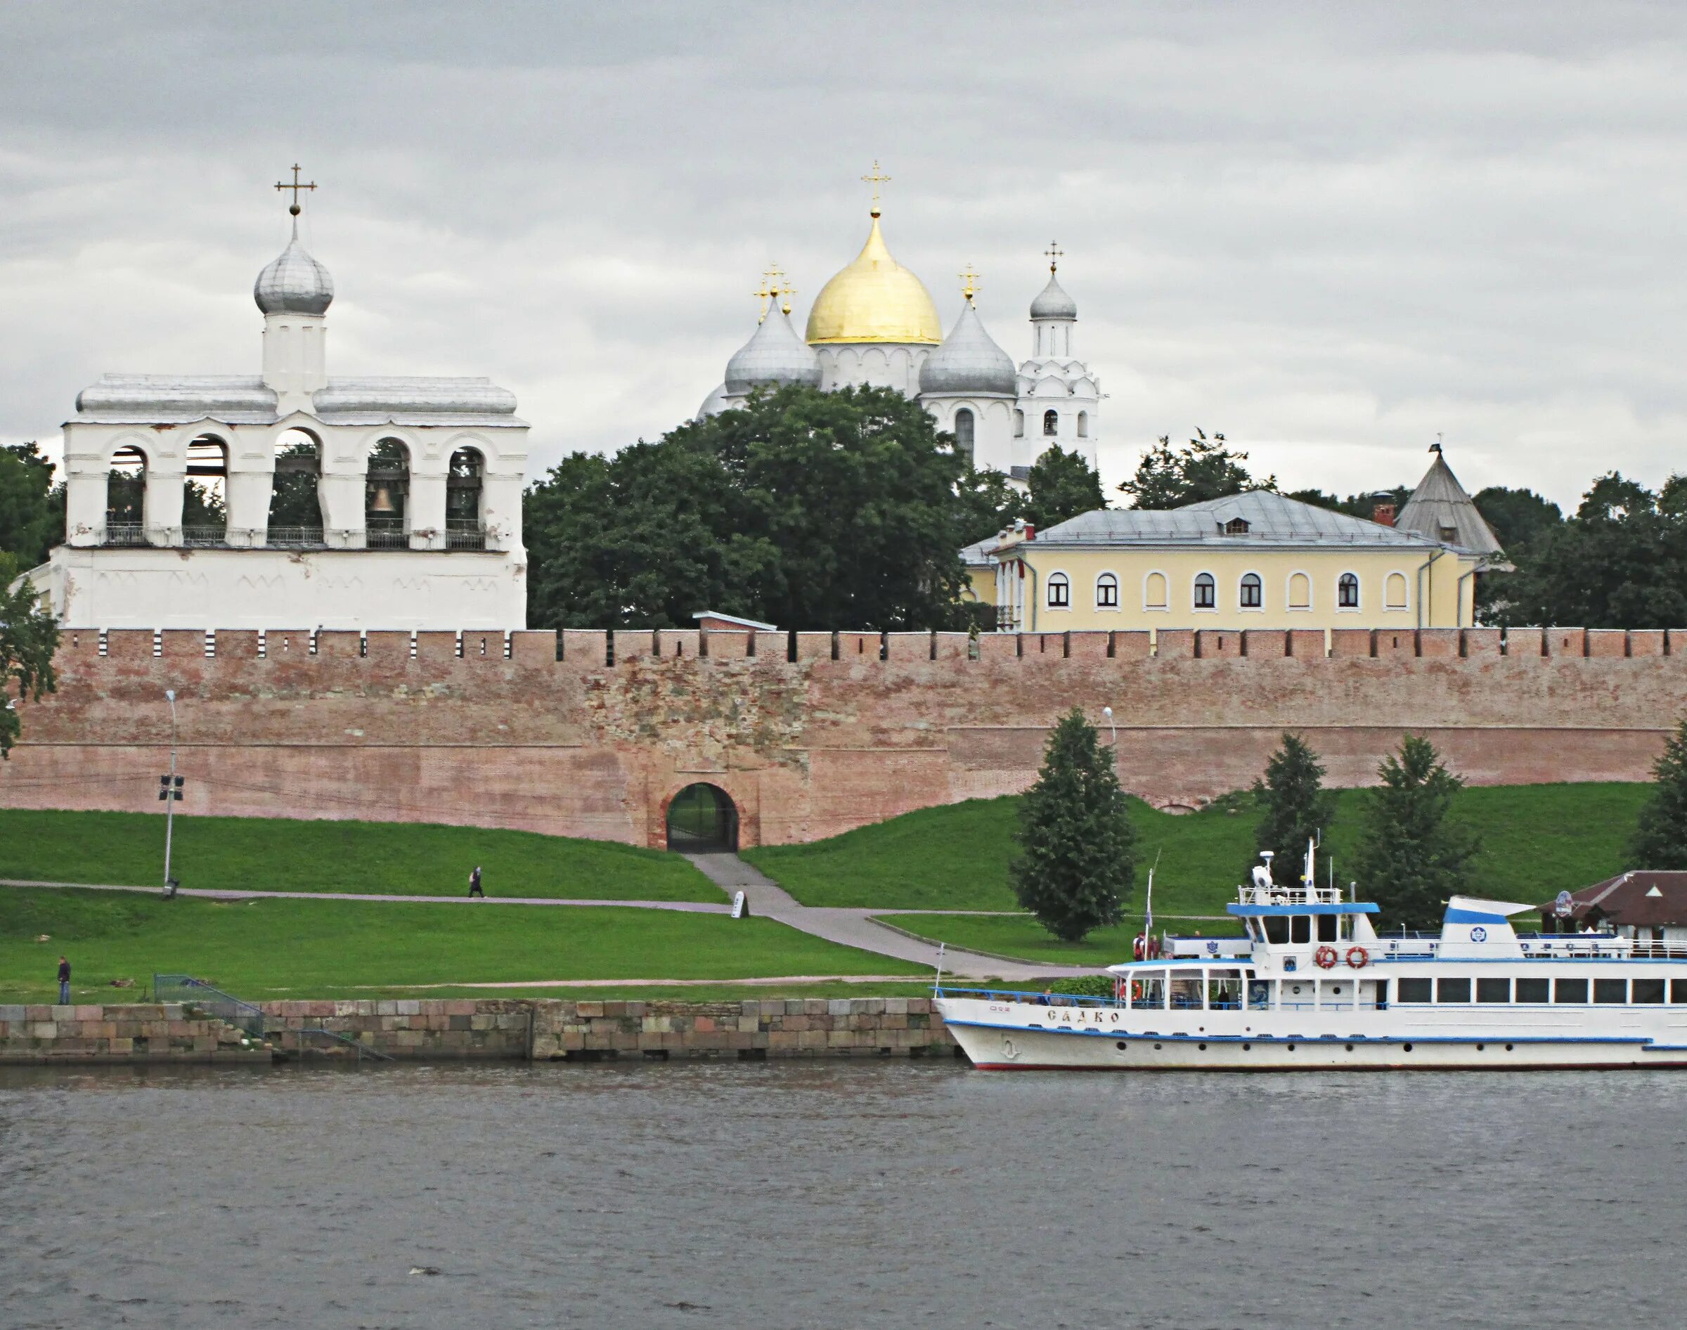
<path id="1" fill-rule="evenodd" d="M 1510 554 L 1510 550 L 1508 550 Z M 1576 515 L 1547 527 L 1496 589 L 1493 621 L 1512 626 L 1670 628 L 1687 623 L 1687 476 L 1657 493 L 1601 476 Z"/>

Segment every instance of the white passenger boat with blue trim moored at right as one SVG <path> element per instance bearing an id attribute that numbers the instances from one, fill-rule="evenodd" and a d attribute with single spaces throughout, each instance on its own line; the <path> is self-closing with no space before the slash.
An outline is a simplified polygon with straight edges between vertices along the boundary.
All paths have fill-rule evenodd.
<path id="1" fill-rule="evenodd" d="M 1267 866 L 1242 938 L 1172 938 L 1112 965 L 1112 998 L 938 989 L 985 1070 L 1687 1067 L 1687 949 L 1613 933 L 1518 935 L 1515 901 L 1454 896 L 1441 933 L 1378 935 L 1377 906 Z"/>

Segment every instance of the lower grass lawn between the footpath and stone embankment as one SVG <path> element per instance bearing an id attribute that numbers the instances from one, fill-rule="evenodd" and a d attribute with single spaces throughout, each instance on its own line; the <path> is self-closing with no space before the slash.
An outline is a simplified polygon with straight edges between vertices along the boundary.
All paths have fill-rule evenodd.
<path id="1" fill-rule="evenodd" d="M 40 933 L 49 940 L 35 942 Z M 123 1001 L 111 979 L 135 979 L 138 989 L 154 972 L 192 974 L 238 998 L 538 979 L 918 974 L 766 918 L 0 888 L 0 1001 L 51 1001 L 61 952 L 79 1001 Z"/>

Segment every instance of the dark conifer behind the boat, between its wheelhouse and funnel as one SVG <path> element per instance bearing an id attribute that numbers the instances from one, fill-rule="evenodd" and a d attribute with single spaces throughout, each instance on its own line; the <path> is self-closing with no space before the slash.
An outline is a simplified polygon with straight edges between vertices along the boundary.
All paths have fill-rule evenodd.
<path id="1" fill-rule="evenodd" d="M 1382 785 L 1370 792 L 1358 881 L 1387 918 L 1409 928 L 1437 927 L 1442 903 L 1466 889 L 1481 849 L 1468 827 L 1447 820 L 1464 781 L 1420 734 L 1407 734 L 1377 775 Z"/>

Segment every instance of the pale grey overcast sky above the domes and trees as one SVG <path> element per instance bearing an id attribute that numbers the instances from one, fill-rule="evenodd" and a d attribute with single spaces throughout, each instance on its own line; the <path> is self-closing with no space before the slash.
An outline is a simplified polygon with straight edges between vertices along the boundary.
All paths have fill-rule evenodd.
<path id="1" fill-rule="evenodd" d="M 0 10 L 0 439 L 108 370 L 255 373 L 272 186 L 322 187 L 329 373 L 472 373 L 531 474 L 690 417 L 865 236 L 1017 360 L 1041 251 L 1107 479 L 1221 430 L 1350 493 L 1574 505 L 1687 469 L 1687 7 L 24 5 Z M 798 322 L 798 326 L 801 326 Z"/>

